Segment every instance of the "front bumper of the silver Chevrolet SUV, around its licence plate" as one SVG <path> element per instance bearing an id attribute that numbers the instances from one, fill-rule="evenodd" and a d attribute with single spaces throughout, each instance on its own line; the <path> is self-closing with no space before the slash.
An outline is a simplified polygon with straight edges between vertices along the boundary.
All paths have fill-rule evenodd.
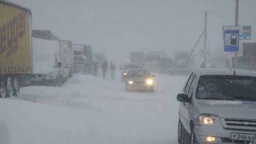
<path id="1" fill-rule="evenodd" d="M 252 130 L 234 130 L 234 129 L 225 129 L 223 127 L 217 126 L 194 126 L 194 133 L 196 135 L 197 141 L 200 144 L 249 144 L 249 141 L 244 140 L 232 140 L 230 139 L 231 133 L 245 133 L 245 134 L 254 134 L 256 131 Z M 206 137 L 211 136 L 215 137 L 214 142 L 208 142 Z"/>

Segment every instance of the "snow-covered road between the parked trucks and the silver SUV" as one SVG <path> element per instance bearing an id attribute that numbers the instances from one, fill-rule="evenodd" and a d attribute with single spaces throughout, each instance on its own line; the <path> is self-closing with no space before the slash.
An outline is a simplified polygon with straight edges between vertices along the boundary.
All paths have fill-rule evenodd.
<path id="1" fill-rule="evenodd" d="M 0 122 L 11 144 L 177 144 L 176 95 L 187 77 L 156 75 L 154 93 L 125 92 L 119 77 L 21 88 L 0 99 Z"/>

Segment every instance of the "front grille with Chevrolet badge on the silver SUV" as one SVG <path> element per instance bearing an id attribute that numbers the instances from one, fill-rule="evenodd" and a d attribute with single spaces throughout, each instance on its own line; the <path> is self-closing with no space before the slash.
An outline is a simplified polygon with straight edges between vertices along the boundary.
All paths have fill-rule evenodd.
<path id="1" fill-rule="evenodd" d="M 223 121 L 224 120 L 224 121 Z M 249 119 L 223 119 L 224 128 L 256 130 L 256 120 Z"/>

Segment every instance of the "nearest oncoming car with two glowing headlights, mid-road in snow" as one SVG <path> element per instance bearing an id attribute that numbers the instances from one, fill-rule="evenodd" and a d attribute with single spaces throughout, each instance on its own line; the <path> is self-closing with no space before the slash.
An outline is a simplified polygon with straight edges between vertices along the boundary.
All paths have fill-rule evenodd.
<path id="1" fill-rule="evenodd" d="M 151 76 L 147 69 L 129 70 L 125 81 L 126 92 L 133 90 L 154 92 L 154 80 L 152 77 L 155 77 L 155 75 Z"/>

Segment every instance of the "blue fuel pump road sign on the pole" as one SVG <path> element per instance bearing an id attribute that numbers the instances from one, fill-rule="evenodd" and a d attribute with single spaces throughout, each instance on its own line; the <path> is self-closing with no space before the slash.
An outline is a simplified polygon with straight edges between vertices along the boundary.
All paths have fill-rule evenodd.
<path id="1" fill-rule="evenodd" d="M 239 50 L 239 30 L 224 31 L 224 51 L 237 52 Z"/>

